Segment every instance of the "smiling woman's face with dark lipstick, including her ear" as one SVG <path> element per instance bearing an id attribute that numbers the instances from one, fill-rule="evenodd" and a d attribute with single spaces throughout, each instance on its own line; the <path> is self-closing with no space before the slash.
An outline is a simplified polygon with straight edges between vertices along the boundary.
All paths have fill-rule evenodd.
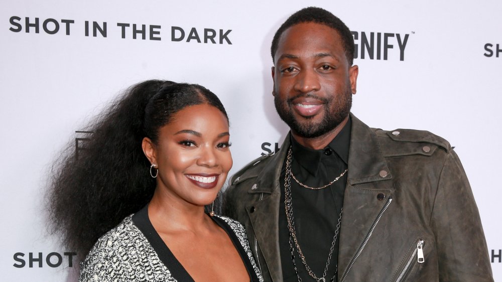
<path id="1" fill-rule="evenodd" d="M 213 202 L 232 168 L 229 138 L 228 120 L 214 106 L 194 105 L 174 114 L 151 146 L 149 159 L 159 169 L 157 192 L 170 202 Z"/>

